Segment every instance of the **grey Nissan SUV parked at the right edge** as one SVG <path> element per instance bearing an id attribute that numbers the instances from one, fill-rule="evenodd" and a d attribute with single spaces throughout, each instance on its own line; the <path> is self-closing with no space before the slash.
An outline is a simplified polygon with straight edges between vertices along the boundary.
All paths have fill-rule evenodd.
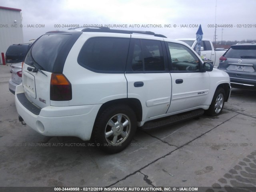
<path id="1" fill-rule="evenodd" d="M 256 90 L 256 44 L 232 45 L 218 69 L 228 73 L 232 87 Z"/>

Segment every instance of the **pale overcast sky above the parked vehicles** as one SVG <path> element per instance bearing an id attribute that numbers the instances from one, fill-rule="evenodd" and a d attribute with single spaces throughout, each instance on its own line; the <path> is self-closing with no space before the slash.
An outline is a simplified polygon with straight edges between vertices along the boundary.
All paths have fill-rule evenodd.
<path id="1" fill-rule="evenodd" d="M 152 31 L 168 38 L 255 40 L 256 0 L 0 0 L 22 13 L 24 42 L 72 26 Z M 66 26 L 65 26 L 66 25 Z"/>

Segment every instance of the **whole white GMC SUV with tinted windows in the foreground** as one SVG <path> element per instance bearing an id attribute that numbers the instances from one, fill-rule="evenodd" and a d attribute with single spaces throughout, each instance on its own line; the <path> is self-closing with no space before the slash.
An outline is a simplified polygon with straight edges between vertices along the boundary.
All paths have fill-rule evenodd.
<path id="1" fill-rule="evenodd" d="M 115 153 L 128 146 L 137 126 L 166 126 L 204 110 L 220 114 L 230 92 L 228 74 L 181 41 L 84 28 L 36 40 L 15 102 L 19 120 L 40 134 L 92 138 Z"/>

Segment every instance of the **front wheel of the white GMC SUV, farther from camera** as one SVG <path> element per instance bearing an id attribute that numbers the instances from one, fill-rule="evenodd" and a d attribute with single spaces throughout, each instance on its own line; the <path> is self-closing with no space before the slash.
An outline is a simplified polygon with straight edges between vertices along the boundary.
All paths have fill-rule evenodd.
<path id="1" fill-rule="evenodd" d="M 212 98 L 212 103 L 206 114 L 209 116 L 216 116 L 221 114 L 225 102 L 225 91 L 223 88 L 217 88 Z"/>

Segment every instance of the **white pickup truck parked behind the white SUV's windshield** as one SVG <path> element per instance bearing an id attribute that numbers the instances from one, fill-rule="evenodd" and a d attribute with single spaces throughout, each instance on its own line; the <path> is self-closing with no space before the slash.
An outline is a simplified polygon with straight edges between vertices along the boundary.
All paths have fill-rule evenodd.
<path id="1" fill-rule="evenodd" d="M 188 44 L 192 49 L 196 50 L 195 38 L 177 39 Z M 218 68 L 219 58 L 226 52 L 226 50 L 214 50 L 212 41 L 210 39 L 203 39 L 201 42 L 201 56 L 207 60 L 211 60 L 214 68 Z"/>

